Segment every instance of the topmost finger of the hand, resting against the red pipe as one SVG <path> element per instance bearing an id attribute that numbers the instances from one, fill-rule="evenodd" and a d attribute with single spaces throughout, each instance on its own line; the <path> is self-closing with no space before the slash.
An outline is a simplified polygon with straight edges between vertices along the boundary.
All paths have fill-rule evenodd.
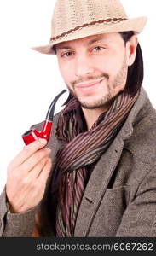
<path id="1" fill-rule="evenodd" d="M 9 166 L 13 169 L 20 166 L 26 159 L 28 159 L 32 154 L 34 154 L 38 149 L 43 148 L 47 141 L 45 139 L 38 139 L 37 141 L 30 143 L 25 146 L 19 154 L 10 162 Z"/>

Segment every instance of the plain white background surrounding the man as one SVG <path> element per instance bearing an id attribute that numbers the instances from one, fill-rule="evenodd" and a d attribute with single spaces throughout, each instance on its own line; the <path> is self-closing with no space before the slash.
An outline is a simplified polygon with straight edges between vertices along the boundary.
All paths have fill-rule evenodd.
<path id="1" fill-rule="evenodd" d="M 129 17 L 148 17 L 147 26 L 139 35 L 145 65 L 143 86 L 156 108 L 155 1 L 122 0 L 122 3 Z M 21 134 L 43 121 L 54 96 L 66 88 L 56 56 L 31 49 L 49 43 L 54 5 L 55 0 L 0 2 L 0 192 L 6 182 L 9 161 L 24 146 Z M 56 112 L 65 99 L 61 97 Z"/>

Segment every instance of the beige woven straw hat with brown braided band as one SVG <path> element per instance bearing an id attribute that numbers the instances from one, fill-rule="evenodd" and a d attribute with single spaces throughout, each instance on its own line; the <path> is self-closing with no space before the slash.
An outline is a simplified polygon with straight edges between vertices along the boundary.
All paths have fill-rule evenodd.
<path id="1" fill-rule="evenodd" d="M 147 17 L 129 19 L 119 0 L 57 0 L 48 45 L 35 47 L 55 54 L 53 46 L 105 32 L 142 32 Z"/>

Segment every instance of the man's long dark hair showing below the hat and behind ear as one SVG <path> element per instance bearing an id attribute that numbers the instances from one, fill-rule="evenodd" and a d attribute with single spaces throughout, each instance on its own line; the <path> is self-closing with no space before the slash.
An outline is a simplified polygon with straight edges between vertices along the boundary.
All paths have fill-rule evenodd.
<path id="1" fill-rule="evenodd" d="M 121 37 L 124 40 L 124 44 L 126 44 L 130 38 L 135 34 L 133 31 L 129 32 L 119 32 Z M 56 53 L 55 46 L 53 47 Z M 139 90 L 142 86 L 144 76 L 144 68 L 143 68 L 143 58 L 142 58 L 142 49 L 140 44 L 137 44 L 136 48 L 136 59 L 134 63 L 128 67 L 127 81 L 125 84 L 124 91 L 128 92 L 131 96 L 135 95 L 137 90 Z M 64 105 L 67 104 L 72 99 L 72 94 L 70 93 Z"/>

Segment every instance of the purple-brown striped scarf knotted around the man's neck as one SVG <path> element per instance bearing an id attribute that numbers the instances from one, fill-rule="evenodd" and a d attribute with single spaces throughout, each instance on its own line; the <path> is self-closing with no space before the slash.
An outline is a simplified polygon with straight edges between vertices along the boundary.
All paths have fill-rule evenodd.
<path id="1" fill-rule="evenodd" d="M 56 212 L 56 236 L 74 236 L 78 209 L 88 181 L 88 168 L 99 160 L 113 142 L 121 125 L 139 95 L 120 93 L 111 107 L 101 113 L 90 131 L 83 131 L 80 103 L 72 98 L 58 120 L 56 137 L 61 142 L 57 153 L 57 168 L 61 171 L 59 198 Z"/>

